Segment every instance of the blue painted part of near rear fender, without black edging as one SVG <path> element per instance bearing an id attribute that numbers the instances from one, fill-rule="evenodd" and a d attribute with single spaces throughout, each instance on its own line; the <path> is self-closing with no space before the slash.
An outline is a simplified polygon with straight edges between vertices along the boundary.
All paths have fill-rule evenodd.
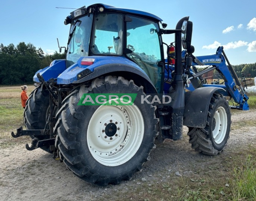
<path id="1" fill-rule="evenodd" d="M 83 58 L 94 58 L 95 61 L 90 66 L 81 65 L 81 60 Z M 123 64 L 126 64 L 126 65 L 137 68 L 143 74 L 145 74 L 145 76 L 147 76 L 147 74 L 137 64 L 128 60 L 125 57 L 90 56 L 90 57 L 81 57 L 81 58 L 79 58 L 77 63 L 73 64 L 72 66 L 67 68 L 65 71 L 63 71 L 62 74 L 60 74 L 57 77 L 57 84 L 71 84 L 71 83 L 78 80 L 77 75 L 79 73 L 81 73 L 82 71 L 84 71 L 85 69 L 88 69 L 88 70 L 93 72 L 95 68 L 97 68 L 99 66 L 103 66 L 105 64 L 119 64 L 120 66 L 122 66 Z"/>

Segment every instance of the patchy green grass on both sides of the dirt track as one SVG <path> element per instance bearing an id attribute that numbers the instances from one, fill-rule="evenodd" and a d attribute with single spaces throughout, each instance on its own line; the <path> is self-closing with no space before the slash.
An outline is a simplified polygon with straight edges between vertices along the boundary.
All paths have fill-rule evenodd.
<path id="1" fill-rule="evenodd" d="M 28 86 L 28 95 L 34 89 Z M 21 89 L 17 87 L 0 87 L 0 149 L 15 146 L 17 143 L 28 142 L 28 137 L 12 138 L 11 131 L 23 125 L 23 112 L 20 100 Z M 256 95 L 250 95 L 248 101 L 250 108 L 256 108 Z M 236 112 L 232 111 L 235 115 Z M 232 129 L 254 125 L 255 120 L 235 122 Z M 256 148 L 248 146 L 241 149 L 234 156 L 221 155 L 221 163 L 229 169 L 225 174 L 218 170 L 218 164 L 207 167 L 212 174 L 199 174 L 197 178 L 177 177 L 173 183 L 156 182 L 149 186 L 141 184 L 132 191 L 133 200 L 256 200 Z M 204 168 L 199 172 L 204 172 Z M 215 172 L 214 172 L 215 171 Z M 215 174 L 216 173 L 216 174 Z M 207 182 L 206 182 L 207 181 Z M 225 184 L 229 186 L 225 187 Z M 222 187 L 224 185 L 224 187 Z M 120 195 L 119 195 L 120 194 Z M 116 197 L 122 198 L 122 191 L 117 192 Z M 105 197 L 111 200 L 109 195 Z"/>

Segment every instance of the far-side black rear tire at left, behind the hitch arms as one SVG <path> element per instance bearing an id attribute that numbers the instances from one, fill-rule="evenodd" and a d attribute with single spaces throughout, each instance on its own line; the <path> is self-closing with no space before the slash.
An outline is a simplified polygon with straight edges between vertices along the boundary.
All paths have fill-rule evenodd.
<path id="1" fill-rule="evenodd" d="M 43 85 L 35 88 L 28 100 L 26 101 L 26 107 L 24 110 L 24 125 L 28 130 L 41 130 L 46 125 L 47 115 L 49 113 L 49 92 L 43 87 Z M 34 138 L 31 136 L 31 138 Z M 38 136 L 39 140 L 45 140 L 49 137 Z M 41 147 L 41 149 L 52 153 L 50 146 Z"/>

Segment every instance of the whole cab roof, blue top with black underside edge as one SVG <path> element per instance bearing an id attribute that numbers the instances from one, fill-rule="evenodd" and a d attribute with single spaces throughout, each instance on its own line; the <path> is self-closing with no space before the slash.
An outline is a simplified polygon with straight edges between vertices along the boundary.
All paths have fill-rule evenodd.
<path id="1" fill-rule="evenodd" d="M 106 9 L 107 11 L 133 14 L 133 15 L 145 17 L 147 19 L 151 19 L 151 20 L 154 20 L 154 21 L 157 21 L 157 22 L 162 22 L 163 21 L 160 17 L 157 17 L 156 15 L 153 15 L 151 13 L 147 13 L 147 12 L 144 12 L 144 11 L 140 11 L 140 10 L 117 8 L 117 7 L 110 6 L 110 5 L 107 5 L 107 4 L 102 4 L 102 3 L 97 3 L 97 4 L 93 4 L 91 6 L 88 6 L 87 10 L 90 7 L 98 7 L 98 8 L 99 7 L 104 7 L 104 9 Z"/>

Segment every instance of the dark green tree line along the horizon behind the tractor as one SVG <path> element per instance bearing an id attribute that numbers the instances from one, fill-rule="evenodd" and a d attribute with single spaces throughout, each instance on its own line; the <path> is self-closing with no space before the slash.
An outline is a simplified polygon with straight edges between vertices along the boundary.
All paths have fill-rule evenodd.
<path id="1" fill-rule="evenodd" d="M 0 45 L 0 84 L 29 84 L 33 83 L 33 76 L 39 69 L 50 65 L 51 61 L 64 59 L 65 53 L 57 51 L 53 55 L 45 54 L 41 48 L 33 44 L 20 42 L 18 45 Z M 238 77 L 256 77 L 256 63 L 233 66 Z M 213 72 L 213 79 L 218 78 L 218 72 Z"/>

